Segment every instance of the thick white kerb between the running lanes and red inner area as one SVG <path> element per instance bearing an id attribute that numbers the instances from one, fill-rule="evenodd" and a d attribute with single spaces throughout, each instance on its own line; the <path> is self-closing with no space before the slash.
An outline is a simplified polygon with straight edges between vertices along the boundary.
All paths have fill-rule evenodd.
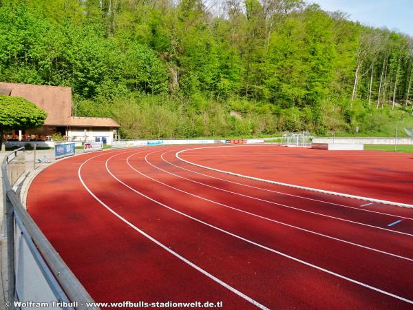
<path id="1" fill-rule="evenodd" d="M 260 147 L 260 146 L 261 145 L 259 145 L 259 146 L 257 146 L 257 145 L 234 145 L 233 147 Z M 346 198 L 372 201 L 373 203 L 383 203 L 385 205 L 396 205 L 396 206 L 399 206 L 399 207 L 413 208 L 413 205 L 409 205 L 407 203 L 396 203 L 394 201 L 389 201 L 389 200 L 381 200 L 381 199 L 374 199 L 374 198 L 370 198 L 370 197 L 363 197 L 363 196 L 356 196 L 356 195 L 350 195 L 350 194 L 344 194 L 344 193 L 338 193 L 338 192 L 331 192 L 331 191 L 326 191 L 324 189 L 318 189 L 318 188 L 313 188 L 313 187 L 305 187 L 305 186 L 300 186 L 300 185 L 282 183 L 282 182 L 277 182 L 277 181 L 273 181 L 273 180 L 266 180 L 265 178 L 255 178 L 254 176 L 246 176 L 244 174 L 236 174 L 235 172 L 229 172 L 229 171 L 225 171 L 225 170 L 215 169 L 215 168 L 212 168 L 212 167 L 199 165 L 199 164 L 193 163 L 191 161 L 186 161 L 185 159 L 183 159 L 179 156 L 179 154 L 181 154 L 183 152 L 191 151 L 193 149 L 213 149 L 213 148 L 217 148 L 217 147 L 224 147 L 224 146 L 194 147 L 194 148 L 191 148 L 191 149 L 182 149 L 182 151 L 176 152 L 175 156 L 180 161 L 183 161 L 184 163 L 188 163 L 189 165 L 194 165 L 194 166 L 201 167 L 201 168 L 204 168 L 204 169 L 209 169 L 209 170 L 213 170 L 213 171 L 216 171 L 216 172 L 221 172 L 223 174 L 230 174 L 231 176 L 240 176 L 241 178 L 249 178 L 250 180 L 257 180 L 257 181 L 260 181 L 260 182 L 271 183 L 271 184 L 275 184 L 275 185 L 293 187 L 293 188 L 297 188 L 297 189 L 304 189 L 306 191 L 311 191 L 311 192 L 319 192 L 319 193 L 323 193 L 323 194 L 341 196 L 341 197 L 346 197 Z"/>

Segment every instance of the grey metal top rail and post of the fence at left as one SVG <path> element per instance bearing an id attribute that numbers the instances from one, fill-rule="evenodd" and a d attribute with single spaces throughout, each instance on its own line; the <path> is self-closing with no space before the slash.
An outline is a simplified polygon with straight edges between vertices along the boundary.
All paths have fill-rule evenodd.
<path id="1" fill-rule="evenodd" d="M 34 223 L 34 220 L 25 210 L 25 207 L 21 204 L 16 192 L 10 186 L 10 180 L 8 180 L 7 167 L 14 158 L 17 157 L 18 152 L 25 152 L 25 148 L 21 147 L 15 149 L 12 153 L 6 156 L 1 165 L 1 173 L 3 175 L 3 202 L 6 207 L 6 229 L 8 238 L 8 275 L 9 275 L 9 301 L 12 302 L 15 296 L 15 275 L 14 275 L 14 212 L 17 214 L 21 223 L 23 223 L 25 230 L 28 232 L 30 238 L 32 238 L 34 244 L 39 250 L 41 256 L 47 263 L 50 271 L 52 271 L 54 278 L 59 282 L 59 285 L 65 292 L 67 298 L 71 302 L 78 302 L 76 309 L 96 309 L 98 307 L 86 307 L 86 302 L 94 302 L 92 297 L 87 293 L 86 289 L 78 281 L 74 273 L 67 267 L 61 256 L 56 252 L 54 247 L 50 244 L 39 227 Z M 10 155 L 14 154 L 14 157 L 10 158 Z M 12 261 L 10 261 L 12 260 Z"/>

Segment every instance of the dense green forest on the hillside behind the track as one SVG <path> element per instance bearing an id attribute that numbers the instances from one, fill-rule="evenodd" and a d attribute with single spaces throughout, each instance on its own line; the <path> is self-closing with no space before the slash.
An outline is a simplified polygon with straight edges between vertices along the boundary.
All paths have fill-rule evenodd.
<path id="1" fill-rule="evenodd" d="M 412 79 L 408 34 L 301 0 L 0 0 L 0 81 L 72 87 L 123 138 L 393 136 Z"/>

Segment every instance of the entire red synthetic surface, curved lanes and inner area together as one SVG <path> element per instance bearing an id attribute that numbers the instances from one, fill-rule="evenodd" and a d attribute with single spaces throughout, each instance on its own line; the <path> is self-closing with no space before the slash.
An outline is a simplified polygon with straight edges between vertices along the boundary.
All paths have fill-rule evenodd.
<path id="1" fill-rule="evenodd" d="M 34 179 L 28 211 L 96 301 L 412 309 L 412 209 L 361 207 L 366 202 L 202 169 L 176 158 L 189 148 L 86 154 L 60 161 Z M 300 151 L 300 163 L 324 165 L 312 187 L 322 183 L 318 176 L 328 165 L 344 161 L 341 152 Z M 388 178 L 379 169 L 385 163 L 377 165 L 378 153 L 362 153 L 352 172 L 369 172 L 364 162 L 375 163 L 374 171 Z M 298 149 L 220 147 L 181 154 L 201 165 L 300 185 L 316 172 L 313 165 L 295 164 Z M 401 158 L 392 155 L 393 163 Z M 293 169 L 299 169 L 294 177 Z M 400 184 L 412 180 L 406 174 L 403 183 L 404 176 L 392 171 Z M 343 180 L 334 182 L 330 186 L 359 190 L 355 182 L 346 187 Z M 409 201 L 399 192 L 406 199 L 401 201 Z M 402 221 L 388 226 L 396 220 Z"/>

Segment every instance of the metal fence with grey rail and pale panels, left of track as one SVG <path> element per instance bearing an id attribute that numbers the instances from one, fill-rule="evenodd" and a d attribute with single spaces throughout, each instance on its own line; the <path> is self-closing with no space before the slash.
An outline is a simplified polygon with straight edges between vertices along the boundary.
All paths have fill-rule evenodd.
<path id="1" fill-rule="evenodd" d="M 7 234 L 8 302 L 61 302 L 61 309 L 98 309 L 69 267 L 45 238 L 12 189 L 25 174 L 25 148 L 8 154 L 1 165 Z M 56 304 L 55 304 L 56 305 Z M 16 307 L 25 309 L 25 307 Z M 44 309 L 45 307 L 43 307 Z M 47 307 L 46 307 L 47 308 Z M 55 307 L 56 309 L 56 307 Z"/>

